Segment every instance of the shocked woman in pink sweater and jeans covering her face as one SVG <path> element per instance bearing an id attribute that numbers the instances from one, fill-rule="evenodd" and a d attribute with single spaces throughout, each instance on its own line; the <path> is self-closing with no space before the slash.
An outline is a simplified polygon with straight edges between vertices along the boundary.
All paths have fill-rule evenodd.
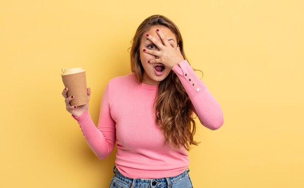
<path id="1" fill-rule="evenodd" d="M 105 87 L 97 127 L 88 104 L 70 106 L 65 88 L 67 110 L 98 158 L 117 142 L 110 188 L 192 188 L 186 151 L 199 144 L 193 113 L 217 130 L 220 105 L 191 68 L 180 31 L 167 17 L 152 15 L 139 25 L 130 56 L 132 72 Z M 90 88 L 87 93 L 89 99 Z"/>

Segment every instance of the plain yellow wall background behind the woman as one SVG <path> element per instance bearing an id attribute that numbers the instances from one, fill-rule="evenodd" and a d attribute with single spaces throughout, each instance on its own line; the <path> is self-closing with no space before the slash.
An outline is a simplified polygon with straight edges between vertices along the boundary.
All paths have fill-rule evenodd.
<path id="1" fill-rule="evenodd" d="M 103 90 L 130 72 L 127 48 L 152 14 L 179 27 L 224 114 L 215 131 L 196 120 L 194 188 L 303 188 L 303 0 L 1 1 L 0 187 L 109 186 L 116 147 L 100 160 L 86 144 L 61 68 L 86 70 L 97 125 Z"/>

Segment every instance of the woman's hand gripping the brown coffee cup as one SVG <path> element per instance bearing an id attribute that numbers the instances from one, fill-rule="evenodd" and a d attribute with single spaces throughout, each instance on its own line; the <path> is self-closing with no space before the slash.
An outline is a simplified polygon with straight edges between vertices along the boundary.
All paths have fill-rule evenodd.
<path id="1" fill-rule="evenodd" d="M 86 111 L 89 108 L 89 100 L 90 100 L 90 95 L 91 95 L 91 89 L 88 87 L 86 88 L 87 91 L 87 103 L 81 106 L 71 106 L 71 104 L 69 103 L 70 101 L 72 101 L 74 99 L 74 96 L 70 96 L 68 97 L 68 87 L 64 88 L 62 91 L 62 95 L 65 98 L 65 102 L 66 102 L 66 109 L 69 113 L 71 113 L 73 116 L 81 116 L 84 111 Z"/>

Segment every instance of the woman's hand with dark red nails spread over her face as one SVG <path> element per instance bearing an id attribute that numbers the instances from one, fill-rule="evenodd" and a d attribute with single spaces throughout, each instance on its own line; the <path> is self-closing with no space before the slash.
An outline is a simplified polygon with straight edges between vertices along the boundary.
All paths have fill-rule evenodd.
<path id="1" fill-rule="evenodd" d="M 165 44 L 163 45 L 161 42 L 156 40 L 152 35 L 146 35 L 146 37 L 154 43 L 159 51 L 156 50 L 149 50 L 144 49 L 145 53 L 152 54 L 153 56 L 157 56 L 156 59 L 150 59 L 149 63 L 162 63 L 165 66 L 172 69 L 175 65 L 178 65 L 179 62 L 185 60 L 183 55 L 181 54 L 180 47 L 177 46 L 174 48 L 168 41 L 167 37 L 164 36 L 164 34 L 157 29 L 156 33 L 161 38 L 162 42 Z"/>

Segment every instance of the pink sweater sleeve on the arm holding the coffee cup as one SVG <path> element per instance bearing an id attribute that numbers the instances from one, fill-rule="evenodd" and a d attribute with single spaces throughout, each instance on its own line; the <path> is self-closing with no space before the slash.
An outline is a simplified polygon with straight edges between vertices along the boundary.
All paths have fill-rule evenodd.
<path id="1" fill-rule="evenodd" d="M 87 144 L 99 159 L 107 158 L 113 151 L 116 142 L 115 121 L 110 115 L 109 107 L 109 85 L 110 82 L 103 93 L 97 127 L 92 121 L 88 110 L 84 111 L 81 116 L 71 115 L 77 120 Z"/>

